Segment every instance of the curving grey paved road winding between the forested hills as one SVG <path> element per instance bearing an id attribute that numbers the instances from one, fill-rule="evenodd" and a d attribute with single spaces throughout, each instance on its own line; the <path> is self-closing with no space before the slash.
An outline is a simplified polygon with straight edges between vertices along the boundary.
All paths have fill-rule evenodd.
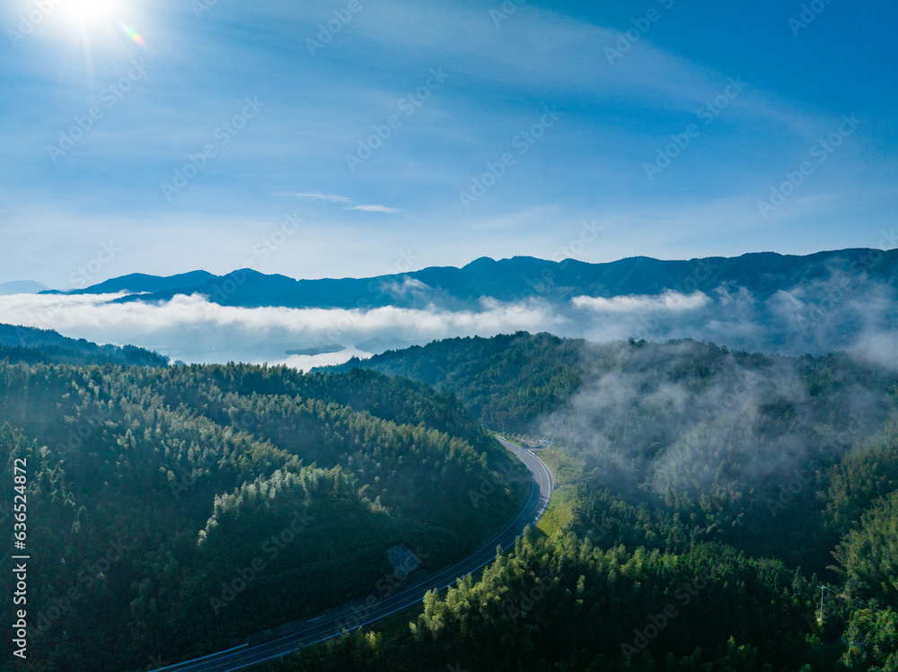
<path id="1" fill-rule="evenodd" d="M 200 659 L 187 660 L 167 668 L 160 668 L 160 670 L 166 670 L 166 672 L 232 672 L 232 670 L 248 668 L 264 660 L 280 658 L 308 644 L 337 637 L 344 629 L 355 630 L 385 616 L 395 614 L 420 602 L 427 590 L 448 588 L 463 576 L 476 572 L 492 562 L 496 558 L 497 545 L 501 545 L 503 549 L 514 545 L 515 538 L 521 536 L 524 528 L 533 525 L 541 518 L 549 506 L 554 486 L 551 472 L 541 459 L 535 457 L 529 450 L 518 448 L 505 439 L 498 438 L 498 441 L 530 469 L 533 474 L 533 489 L 524 504 L 524 509 L 518 513 L 515 519 L 464 560 L 428 576 L 427 579 L 414 586 L 378 599 L 370 607 L 355 614 L 329 618 L 321 623 L 309 625 L 304 630 L 286 634 L 274 640 L 251 646 L 243 644 L 234 649 L 219 651 Z M 160 671 L 157 670 L 157 672 Z"/>

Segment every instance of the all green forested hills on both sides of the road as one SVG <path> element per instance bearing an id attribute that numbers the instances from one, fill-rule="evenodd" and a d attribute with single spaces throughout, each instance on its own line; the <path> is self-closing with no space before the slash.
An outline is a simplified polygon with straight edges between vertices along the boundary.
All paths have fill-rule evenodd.
<path id="1" fill-rule="evenodd" d="M 541 446 L 539 528 L 389 636 L 260 670 L 898 669 L 895 371 L 524 333 L 313 374 L 28 356 L 0 485 L 28 460 L 34 669 L 158 667 L 364 594 L 392 545 L 461 557 L 529 492 L 480 420 Z"/>

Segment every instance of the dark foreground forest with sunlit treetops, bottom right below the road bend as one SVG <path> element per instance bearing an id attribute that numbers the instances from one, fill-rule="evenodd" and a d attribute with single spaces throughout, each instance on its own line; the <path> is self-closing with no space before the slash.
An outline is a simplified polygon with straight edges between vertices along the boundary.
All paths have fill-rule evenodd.
<path id="1" fill-rule="evenodd" d="M 893 511 L 879 525 L 896 521 Z M 347 636 L 260 670 L 894 670 L 894 604 L 841 587 L 827 592 L 820 622 L 817 584 L 719 542 L 602 550 L 572 533 L 531 534 L 479 580 L 429 594 L 399 641 Z"/>

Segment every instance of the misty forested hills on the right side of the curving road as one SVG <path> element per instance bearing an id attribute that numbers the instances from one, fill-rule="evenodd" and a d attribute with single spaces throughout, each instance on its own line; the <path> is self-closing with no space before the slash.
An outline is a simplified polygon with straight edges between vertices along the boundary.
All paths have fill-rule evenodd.
<path id="1" fill-rule="evenodd" d="M 428 598 L 404 644 L 428 669 L 898 669 L 896 371 L 524 333 L 354 366 L 548 441 L 559 480 L 549 538 Z M 393 647 L 343 646 L 414 668 Z"/>

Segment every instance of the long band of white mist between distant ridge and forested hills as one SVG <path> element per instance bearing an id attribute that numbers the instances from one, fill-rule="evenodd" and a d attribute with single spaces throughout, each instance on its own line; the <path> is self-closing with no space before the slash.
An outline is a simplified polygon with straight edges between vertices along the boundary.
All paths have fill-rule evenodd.
<path id="1" fill-rule="evenodd" d="M 414 294 L 421 285 L 397 282 L 374 291 L 378 289 L 394 295 Z M 0 296 L 0 322 L 52 328 L 65 336 L 101 343 L 139 345 L 189 362 L 286 362 L 286 351 L 300 347 L 351 347 L 375 337 L 399 337 L 422 345 L 439 338 L 494 336 L 522 329 L 597 342 L 627 337 L 656 342 L 694 338 L 783 354 L 838 349 L 887 366 L 894 366 L 889 362 L 895 361 L 898 343 L 892 317 L 894 290 L 866 280 L 847 283 L 838 274 L 767 299 L 744 287 L 708 294 L 581 296 L 559 302 L 484 298 L 477 308 L 435 301 L 423 308 L 369 310 L 241 308 L 213 303 L 198 294 L 158 303 L 110 302 L 116 298 L 117 294 Z"/>

